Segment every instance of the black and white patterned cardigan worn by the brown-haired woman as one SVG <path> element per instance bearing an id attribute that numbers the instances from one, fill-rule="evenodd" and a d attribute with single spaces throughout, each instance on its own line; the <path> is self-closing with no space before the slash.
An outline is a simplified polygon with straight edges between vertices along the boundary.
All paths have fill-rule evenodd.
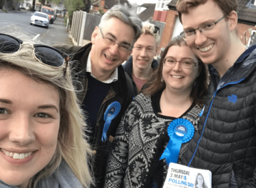
<path id="1" fill-rule="evenodd" d="M 192 105 L 180 118 L 192 122 L 195 131 L 197 131 L 200 111 L 199 105 Z M 107 162 L 104 187 L 152 187 L 152 184 L 149 184 L 152 181 L 149 174 L 154 174 L 151 172 L 151 165 L 157 148 L 162 145 L 164 150 L 168 144 L 168 140 L 164 144 L 160 144 L 159 140 L 166 137 L 168 125 L 172 120 L 175 118 L 165 119 L 153 110 L 150 96 L 143 94 L 136 96 L 123 115 L 116 131 Z M 187 146 L 188 143 L 182 144 L 178 163 L 181 161 Z M 159 156 L 157 161 L 159 161 Z M 163 178 L 168 169 L 165 159 L 162 161 L 165 164 L 163 165 Z"/>

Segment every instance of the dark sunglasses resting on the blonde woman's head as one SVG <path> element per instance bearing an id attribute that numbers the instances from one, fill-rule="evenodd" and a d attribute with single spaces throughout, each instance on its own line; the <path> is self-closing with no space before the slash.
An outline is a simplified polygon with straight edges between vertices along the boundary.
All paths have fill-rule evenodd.
<path id="1" fill-rule="evenodd" d="M 14 36 L 0 33 L 0 53 L 15 53 L 21 49 L 22 44 L 29 43 L 23 42 Z M 30 45 L 34 48 L 34 57 L 38 62 L 51 68 L 60 68 L 66 62 L 67 68 L 69 57 L 66 53 L 43 44 Z M 66 68 L 64 75 L 66 75 Z"/>

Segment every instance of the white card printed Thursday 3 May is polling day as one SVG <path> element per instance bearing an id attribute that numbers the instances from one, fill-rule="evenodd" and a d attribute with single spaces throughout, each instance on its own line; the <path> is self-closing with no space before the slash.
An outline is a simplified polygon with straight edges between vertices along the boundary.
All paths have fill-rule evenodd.
<path id="1" fill-rule="evenodd" d="M 170 163 L 163 188 L 212 188 L 212 172 Z"/>

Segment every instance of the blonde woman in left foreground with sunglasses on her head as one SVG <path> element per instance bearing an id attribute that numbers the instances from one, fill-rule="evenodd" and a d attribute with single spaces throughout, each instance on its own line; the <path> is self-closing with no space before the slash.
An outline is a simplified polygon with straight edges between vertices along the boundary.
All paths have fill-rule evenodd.
<path id="1" fill-rule="evenodd" d="M 0 33 L 0 187 L 90 187 L 68 55 Z"/>

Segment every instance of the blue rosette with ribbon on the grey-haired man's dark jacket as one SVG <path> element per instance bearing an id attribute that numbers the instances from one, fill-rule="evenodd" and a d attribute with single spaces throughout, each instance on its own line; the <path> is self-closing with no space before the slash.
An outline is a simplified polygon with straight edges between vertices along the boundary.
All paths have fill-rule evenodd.
<path id="1" fill-rule="evenodd" d="M 111 103 L 107 107 L 107 109 L 104 113 L 104 118 L 103 118 L 104 121 L 105 121 L 105 124 L 104 124 L 104 128 L 103 128 L 103 133 L 102 133 L 102 136 L 101 136 L 101 141 L 102 142 L 106 142 L 106 140 L 107 140 L 107 130 L 110 128 L 110 124 L 111 124 L 112 120 L 114 118 L 116 118 L 120 109 L 121 109 L 121 105 L 117 101 L 114 101 L 113 103 Z"/>

